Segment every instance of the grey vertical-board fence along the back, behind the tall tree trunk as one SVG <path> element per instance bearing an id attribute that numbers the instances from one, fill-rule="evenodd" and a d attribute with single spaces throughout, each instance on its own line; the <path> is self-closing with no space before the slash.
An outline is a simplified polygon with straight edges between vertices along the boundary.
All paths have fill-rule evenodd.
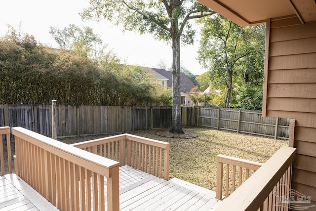
<path id="1" fill-rule="evenodd" d="M 58 102 L 57 102 L 58 103 Z M 51 137 L 51 105 L 0 105 L 0 127 L 24 127 Z M 57 106 L 57 136 L 76 137 L 171 127 L 172 107 Z M 194 108 L 182 107 L 182 125 L 194 125 Z"/>

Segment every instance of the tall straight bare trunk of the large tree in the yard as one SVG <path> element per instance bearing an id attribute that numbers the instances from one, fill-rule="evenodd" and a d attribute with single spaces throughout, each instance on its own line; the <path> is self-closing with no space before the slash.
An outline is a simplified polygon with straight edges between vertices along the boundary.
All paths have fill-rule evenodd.
<path id="1" fill-rule="evenodd" d="M 175 28 L 174 28 L 175 29 Z M 176 29 L 177 31 L 177 26 Z M 181 120 L 180 35 L 172 35 L 172 125 L 170 132 L 184 133 Z"/>

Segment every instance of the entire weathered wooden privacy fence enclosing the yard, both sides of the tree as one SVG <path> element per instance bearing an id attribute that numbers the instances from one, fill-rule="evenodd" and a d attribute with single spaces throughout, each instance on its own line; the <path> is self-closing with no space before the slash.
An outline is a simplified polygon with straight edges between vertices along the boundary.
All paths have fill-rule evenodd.
<path id="1" fill-rule="evenodd" d="M 58 102 L 57 102 L 58 104 Z M 56 135 L 76 137 L 171 127 L 172 107 L 56 106 Z M 0 105 L 0 127 L 24 127 L 52 137 L 52 105 Z M 182 107 L 182 126 L 204 126 L 288 139 L 289 120 L 259 111 Z"/>

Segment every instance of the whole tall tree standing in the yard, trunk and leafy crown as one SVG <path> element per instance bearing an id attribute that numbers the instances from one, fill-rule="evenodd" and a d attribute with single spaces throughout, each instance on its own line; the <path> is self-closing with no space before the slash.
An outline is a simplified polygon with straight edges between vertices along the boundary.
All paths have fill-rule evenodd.
<path id="1" fill-rule="evenodd" d="M 180 40 L 192 44 L 195 30 L 189 20 L 215 12 L 196 0 L 90 0 L 81 13 L 84 19 L 105 18 L 124 30 L 150 33 L 172 46 L 172 126 L 170 132 L 183 133 L 180 92 Z"/>

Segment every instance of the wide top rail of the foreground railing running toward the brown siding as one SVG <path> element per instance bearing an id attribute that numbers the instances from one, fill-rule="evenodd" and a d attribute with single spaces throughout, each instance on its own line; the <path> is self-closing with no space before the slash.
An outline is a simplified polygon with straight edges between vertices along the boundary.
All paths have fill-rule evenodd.
<path id="1" fill-rule="evenodd" d="M 258 210 L 296 156 L 296 148 L 283 146 L 221 205 L 219 211 Z"/>

